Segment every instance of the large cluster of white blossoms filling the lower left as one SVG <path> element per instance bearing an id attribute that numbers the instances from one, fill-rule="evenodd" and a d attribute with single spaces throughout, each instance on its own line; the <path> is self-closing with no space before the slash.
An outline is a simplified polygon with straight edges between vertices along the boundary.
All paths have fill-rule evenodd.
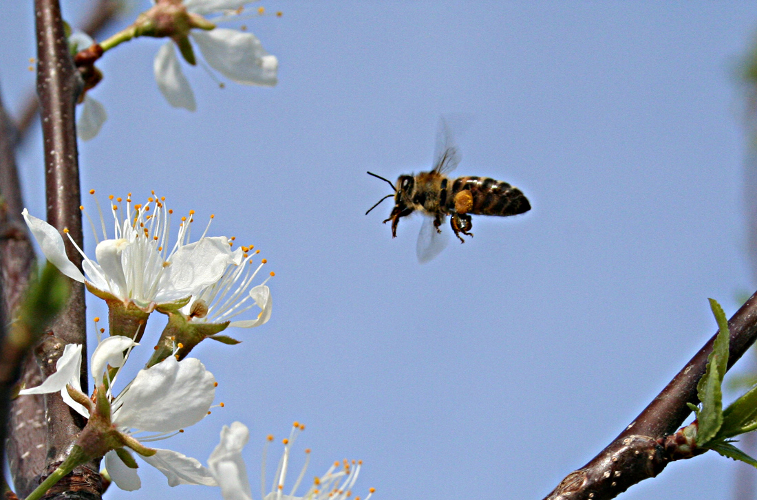
<path id="1" fill-rule="evenodd" d="M 208 338 L 239 343 L 220 334 L 226 328 L 254 328 L 269 321 L 273 302 L 266 283 L 273 272 L 259 278 L 266 259 L 255 260 L 259 250 L 252 245 L 234 248 L 235 238 L 209 236 L 213 216 L 200 237 L 193 239 L 195 213 L 190 210 L 185 216 L 174 216 L 165 198 L 154 191 L 145 203 L 133 203 L 131 194 L 125 198 L 111 196 L 106 210 L 94 197 L 95 192 L 90 194 L 98 212 L 95 218 L 85 212 L 95 238 L 94 256 L 88 256 L 63 231 L 82 256 L 84 272 L 68 258 L 61 233 L 23 210 L 26 224 L 48 261 L 64 275 L 84 283 L 90 293 L 107 303 L 109 312 L 108 335 L 102 337 L 104 329 L 98 331 L 98 345 L 89 360 L 94 382 L 91 394 L 83 393 L 79 383 L 84 360 L 78 344 L 64 346 L 55 373 L 42 384 L 20 390 L 20 396 L 60 393 L 87 421 L 66 461 L 27 498 L 42 498 L 74 467 L 98 458 L 103 458 L 103 474 L 120 489 L 139 489 L 139 458 L 160 470 L 170 486 L 219 486 L 225 500 L 252 500 L 241 456 L 249 431 L 241 422 L 223 427 L 207 467 L 196 458 L 154 448 L 151 443 L 184 433 L 210 415 L 218 383 L 198 359 L 188 354 Z M 110 222 L 104 216 L 107 211 L 111 213 Z M 172 225 L 177 218 L 174 236 Z M 166 315 L 167 325 L 154 349 L 148 351 L 151 356 L 145 368 L 132 380 L 120 380 L 133 353 L 144 350 L 145 325 L 153 312 Z M 98 321 L 95 318 L 95 325 Z M 306 460 L 291 491 L 284 494 L 291 446 L 301 430 L 304 425 L 295 422 L 289 437 L 283 440 L 282 458 L 266 492 L 265 456 L 273 440 L 269 436 L 263 451 L 261 500 L 353 498 L 352 488 L 361 467 L 355 461 L 336 462 L 326 474 L 316 477 L 303 496 L 296 496 L 307 469 Z"/>

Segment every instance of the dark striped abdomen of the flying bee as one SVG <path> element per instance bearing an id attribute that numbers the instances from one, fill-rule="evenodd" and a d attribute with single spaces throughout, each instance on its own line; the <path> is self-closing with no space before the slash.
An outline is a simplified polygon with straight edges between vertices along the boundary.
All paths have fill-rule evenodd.
<path id="1" fill-rule="evenodd" d="M 444 179 L 445 181 L 447 179 Z M 447 185 L 444 185 L 447 184 Z M 489 177 L 458 177 L 442 185 L 445 191 L 444 206 L 452 212 L 455 197 L 460 191 L 470 191 L 472 207 L 467 213 L 484 216 L 515 216 L 531 210 L 531 203 L 518 189 L 506 182 Z"/>

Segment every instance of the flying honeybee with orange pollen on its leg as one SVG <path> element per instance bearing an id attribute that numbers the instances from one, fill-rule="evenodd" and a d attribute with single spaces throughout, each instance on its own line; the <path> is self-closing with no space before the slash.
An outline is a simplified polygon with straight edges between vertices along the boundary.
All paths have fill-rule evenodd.
<path id="1" fill-rule="evenodd" d="M 460 163 L 460 155 L 454 144 L 452 134 L 446 121 L 439 121 L 439 131 L 436 139 L 434 154 L 434 168 L 431 172 L 420 172 L 417 175 L 400 175 L 397 182 L 392 184 L 388 179 L 373 172 L 368 172 L 378 179 L 386 181 L 393 194 L 388 194 L 373 207 L 388 197 L 394 197 L 394 209 L 384 223 L 391 221 L 391 237 L 397 238 L 397 223 L 402 217 L 409 216 L 418 210 L 426 217 L 418 234 L 416 253 L 419 262 L 433 259 L 444 247 L 447 241 L 440 238 L 441 225 L 451 216 L 450 225 L 455 236 L 461 243 L 465 243 L 460 234 L 473 236 L 471 215 L 484 216 L 515 216 L 531 210 L 531 203 L 518 189 L 506 182 L 488 177 L 468 175 L 450 179 L 447 177 Z"/>

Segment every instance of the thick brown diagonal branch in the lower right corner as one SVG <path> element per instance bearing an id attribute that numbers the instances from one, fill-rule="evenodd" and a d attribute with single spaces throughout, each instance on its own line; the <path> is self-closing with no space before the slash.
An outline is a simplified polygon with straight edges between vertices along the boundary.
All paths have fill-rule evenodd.
<path id="1" fill-rule="evenodd" d="M 757 293 L 728 321 L 731 350 L 728 368 L 757 339 Z M 691 410 L 686 403 L 699 403 L 696 384 L 705 373 L 712 337 L 684 366 L 640 415 L 588 464 L 575 470 L 545 500 L 606 500 L 630 486 L 655 477 L 671 460 L 658 439 L 678 430 Z"/>

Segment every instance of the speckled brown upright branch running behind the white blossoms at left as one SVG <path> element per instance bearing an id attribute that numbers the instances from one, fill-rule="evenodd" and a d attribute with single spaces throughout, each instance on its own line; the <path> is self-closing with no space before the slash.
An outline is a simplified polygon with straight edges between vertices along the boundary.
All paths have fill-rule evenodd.
<path id="1" fill-rule="evenodd" d="M 42 136 L 45 148 L 45 188 L 48 222 L 68 234 L 83 247 L 82 216 L 79 211 L 79 154 L 76 149 L 76 100 L 83 82 L 74 68 L 64 31 L 58 0 L 35 0 L 34 14 L 37 39 L 37 94 L 42 114 Z M 65 238 L 67 239 L 67 238 Z M 69 259 L 81 267 L 81 256 L 67 241 Z M 86 356 L 86 315 L 84 286 L 73 280 L 66 308 L 52 325 L 55 337 L 42 343 L 38 359 L 43 369 L 54 365 L 67 343 L 82 344 Z M 87 391 L 86 362 L 82 363 L 82 388 Z M 72 411 L 60 394 L 45 395 L 47 415 L 47 467 L 55 470 L 67 456 L 71 443 L 83 427 L 83 419 Z M 92 464 L 96 471 L 97 464 Z M 97 474 L 74 471 L 59 483 L 61 494 L 46 498 L 100 498 L 101 484 Z"/>

